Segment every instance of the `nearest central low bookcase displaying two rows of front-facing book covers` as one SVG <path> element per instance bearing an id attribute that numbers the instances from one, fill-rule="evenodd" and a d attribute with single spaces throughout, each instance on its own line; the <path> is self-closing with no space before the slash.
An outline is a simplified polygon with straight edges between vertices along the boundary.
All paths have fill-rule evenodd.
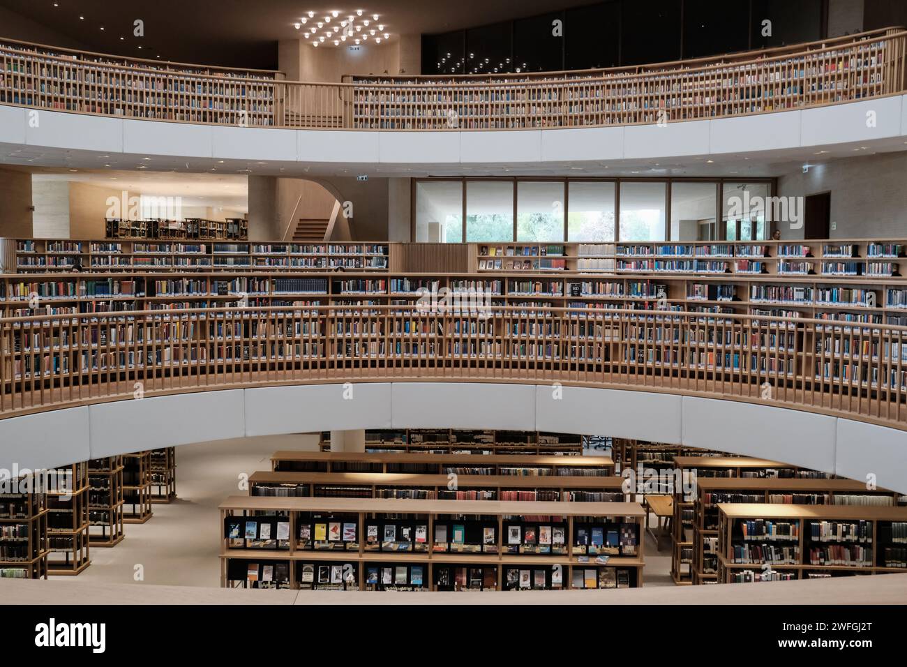
<path id="1" fill-rule="evenodd" d="M 222 587 L 519 590 L 643 584 L 644 513 L 635 503 L 232 496 L 220 512 Z M 384 584 L 385 567 L 394 568 L 391 584 Z M 405 570 L 398 573 L 397 567 Z M 416 582 L 414 567 L 421 568 Z M 474 585 L 473 569 L 483 571 Z"/>

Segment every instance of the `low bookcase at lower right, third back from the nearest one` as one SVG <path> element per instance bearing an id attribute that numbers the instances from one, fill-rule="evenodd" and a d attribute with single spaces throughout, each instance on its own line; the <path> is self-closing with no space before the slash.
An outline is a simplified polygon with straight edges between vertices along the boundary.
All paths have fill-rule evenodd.
<path id="1" fill-rule="evenodd" d="M 707 477 L 828 478 L 828 473 L 806 470 L 778 461 L 749 456 L 675 456 L 671 480 L 674 517 L 671 521 L 671 578 L 675 584 L 693 583 L 693 529 L 696 482 Z"/>

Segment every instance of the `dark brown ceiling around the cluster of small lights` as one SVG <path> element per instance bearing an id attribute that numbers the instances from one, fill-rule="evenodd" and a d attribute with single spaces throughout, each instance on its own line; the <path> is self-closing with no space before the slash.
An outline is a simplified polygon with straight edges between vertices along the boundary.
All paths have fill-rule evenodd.
<path id="1" fill-rule="evenodd" d="M 316 16 L 337 11 L 341 15 L 377 14 L 391 34 L 444 33 L 512 18 L 544 14 L 593 0 L 157 0 L 153 3 L 111 0 L 0 0 L 18 15 L 46 26 L 73 43 L 104 54 L 155 58 L 183 63 L 220 64 L 259 69 L 277 68 L 277 42 L 297 39 L 293 27 L 308 11 Z M 359 0 L 356 0 L 358 3 Z M 57 6 L 54 6 L 56 4 Z M 80 19 L 80 16 L 84 18 Z M 145 35 L 133 36 L 135 19 L 144 21 Z M 316 20 L 318 20 L 316 18 Z M 103 26 L 103 30 L 101 27 Z M 27 35 L 0 36 L 28 40 Z M 121 39 L 122 37 L 122 39 Z M 142 46 L 139 49 L 139 46 Z"/>

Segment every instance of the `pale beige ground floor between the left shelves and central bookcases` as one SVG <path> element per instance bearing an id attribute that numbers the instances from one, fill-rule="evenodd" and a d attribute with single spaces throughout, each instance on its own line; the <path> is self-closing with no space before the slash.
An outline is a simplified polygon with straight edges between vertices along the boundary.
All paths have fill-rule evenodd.
<path id="1" fill-rule="evenodd" d="M 177 448 L 177 495 L 172 505 L 154 505 L 142 525 L 127 525 L 126 539 L 112 549 L 93 548 L 92 565 L 67 581 L 134 584 L 141 565 L 143 582 L 170 586 L 220 584 L 218 505 L 239 489 L 239 476 L 270 468 L 278 449 L 317 449 L 314 436 L 268 436 L 222 440 Z M 673 585 L 669 540 L 662 551 L 646 537 L 645 586 Z"/>

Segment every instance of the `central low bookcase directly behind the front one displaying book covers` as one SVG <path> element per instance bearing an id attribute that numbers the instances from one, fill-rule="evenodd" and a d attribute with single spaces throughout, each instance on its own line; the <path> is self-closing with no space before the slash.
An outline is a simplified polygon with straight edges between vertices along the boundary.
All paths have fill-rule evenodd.
<path id="1" fill-rule="evenodd" d="M 256 472 L 249 495 L 615 503 L 628 500 L 623 485 L 616 476 Z"/>

